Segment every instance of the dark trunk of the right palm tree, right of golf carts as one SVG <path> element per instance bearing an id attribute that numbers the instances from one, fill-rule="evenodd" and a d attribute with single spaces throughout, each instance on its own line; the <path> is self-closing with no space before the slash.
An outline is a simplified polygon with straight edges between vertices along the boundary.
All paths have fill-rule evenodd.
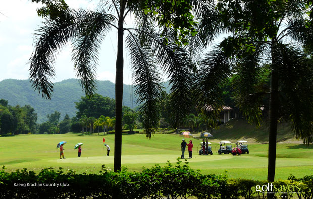
<path id="1" fill-rule="evenodd" d="M 277 137 L 277 120 L 279 110 L 278 100 L 278 72 L 277 57 L 274 52 L 276 42 L 272 39 L 272 73 L 271 73 L 271 92 L 270 92 L 270 129 L 269 129 L 269 158 L 268 158 L 268 181 L 274 182 L 276 168 L 276 137 Z M 269 198 L 273 198 L 274 194 L 267 194 Z"/>

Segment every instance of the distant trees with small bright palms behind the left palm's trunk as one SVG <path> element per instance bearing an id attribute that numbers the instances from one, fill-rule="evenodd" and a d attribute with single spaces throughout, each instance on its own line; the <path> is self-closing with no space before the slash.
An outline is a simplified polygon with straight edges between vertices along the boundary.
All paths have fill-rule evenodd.
<path id="1" fill-rule="evenodd" d="M 83 96 L 78 102 L 75 102 L 77 109 L 76 116 L 70 118 L 65 115 L 62 121 L 60 120 L 61 113 L 55 111 L 47 115 L 48 121 L 38 125 L 39 134 L 63 134 L 66 132 L 108 132 L 114 129 L 115 126 L 115 100 L 110 97 L 104 97 L 100 94 L 95 94 L 93 98 Z M 137 126 L 137 119 L 133 118 L 136 115 L 129 107 L 123 106 L 125 113 L 125 127 L 133 130 Z"/>

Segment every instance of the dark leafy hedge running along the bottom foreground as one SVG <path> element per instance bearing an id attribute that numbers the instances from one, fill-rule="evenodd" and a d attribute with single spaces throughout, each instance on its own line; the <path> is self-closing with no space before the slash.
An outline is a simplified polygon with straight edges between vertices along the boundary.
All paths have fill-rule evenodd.
<path id="1" fill-rule="evenodd" d="M 64 173 L 62 168 L 42 169 L 39 174 L 27 169 L 0 171 L 0 198 L 266 198 L 262 185 L 267 181 L 228 179 L 225 175 L 203 175 L 178 159 L 161 167 L 143 168 L 141 172 L 108 171 L 104 165 L 100 174 Z M 257 185 L 258 191 L 257 191 Z M 276 197 L 313 198 L 313 176 L 274 182 Z M 25 186 L 25 187 L 24 187 Z M 291 187 L 291 190 L 290 190 Z M 292 194 L 292 187 L 297 187 Z M 286 191 L 289 188 L 289 191 Z M 263 189 L 266 189 L 264 186 Z"/>

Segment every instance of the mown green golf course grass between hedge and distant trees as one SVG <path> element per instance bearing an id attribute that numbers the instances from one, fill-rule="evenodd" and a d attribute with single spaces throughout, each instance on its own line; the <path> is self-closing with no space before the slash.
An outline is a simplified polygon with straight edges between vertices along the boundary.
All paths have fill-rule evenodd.
<path id="1" fill-rule="evenodd" d="M 111 147 L 110 156 L 102 144 L 102 137 Z M 123 134 L 122 165 L 130 171 L 140 171 L 142 167 L 152 167 L 155 164 L 165 165 L 169 160 L 176 164 L 180 157 L 180 143 L 182 137 L 175 134 L 155 134 L 147 139 L 144 134 Z M 229 177 L 265 180 L 267 178 L 267 144 L 249 143 L 250 154 L 241 156 L 218 155 L 215 148 L 218 139 L 212 142 L 213 155 L 198 155 L 201 140 L 193 140 L 193 158 L 188 159 L 193 169 L 200 169 L 202 173 L 226 174 Z M 186 140 L 189 141 L 189 138 Z M 236 141 L 236 139 L 230 139 Z M 101 165 L 113 170 L 114 135 L 18 135 L 0 137 L 0 165 L 7 170 L 27 168 L 36 172 L 42 168 L 62 167 L 65 170 L 74 169 L 76 172 L 98 173 Z M 56 145 L 60 141 L 67 141 L 64 145 L 66 159 L 59 159 L 59 149 Z M 82 157 L 77 157 L 76 143 L 83 142 Z M 276 180 L 286 179 L 291 173 L 296 177 L 303 177 L 313 173 L 313 148 L 302 144 L 282 143 L 277 145 Z M 185 152 L 188 157 L 188 152 Z M 184 162 L 184 161 L 183 161 Z"/>

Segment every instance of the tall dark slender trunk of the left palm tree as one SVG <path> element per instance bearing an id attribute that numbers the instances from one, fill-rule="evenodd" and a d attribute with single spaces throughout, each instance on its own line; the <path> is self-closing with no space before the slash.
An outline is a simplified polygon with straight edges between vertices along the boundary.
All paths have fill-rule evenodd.
<path id="1" fill-rule="evenodd" d="M 121 3 L 122 4 L 122 3 Z M 118 46 L 116 57 L 115 75 L 115 137 L 114 137 L 114 172 L 121 170 L 122 158 L 122 101 L 123 101 L 123 15 L 125 5 L 120 7 L 120 18 L 118 24 Z"/>

